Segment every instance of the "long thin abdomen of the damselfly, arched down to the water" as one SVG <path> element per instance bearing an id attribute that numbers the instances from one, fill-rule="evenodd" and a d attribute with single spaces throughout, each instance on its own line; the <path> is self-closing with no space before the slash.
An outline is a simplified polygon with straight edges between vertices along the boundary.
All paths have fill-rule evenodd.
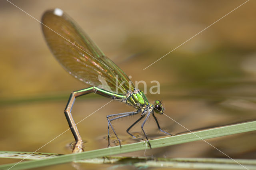
<path id="1" fill-rule="evenodd" d="M 76 140 L 76 144 L 74 145 L 72 153 L 79 153 L 79 152 L 83 152 L 84 150 L 82 148 L 82 145 L 83 145 L 82 138 L 81 138 L 81 136 L 78 132 L 78 129 L 76 127 L 76 123 L 74 122 L 74 119 L 72 117 L 71 110 L 72 110 L 72 107 L 74 105 L 76 97 L 86 95 L 86 94 L 92 93 L 92 92 L 98 93 L 100 95 L 103 95 L 103 96 L 108 97 L 108 98 L 113 98 L 113 99 L 122 100 L 122 98 L 123 98 L 122 95 L 116 95 L 116 94 L 111 93 L 109 91 L 99 89 L 98 87 L 89 87 L 87 89 L 82 89 L 82 90 L 74 91 L 74 92 L 71 93 L 64 113 L 65 113 L 66 119 L 68 121 L 68 125 L 70 127 L 70 130 L 71 130 L 71 132 L 72 132 L 72 134 L 73 134 L 73 136 Z"/>

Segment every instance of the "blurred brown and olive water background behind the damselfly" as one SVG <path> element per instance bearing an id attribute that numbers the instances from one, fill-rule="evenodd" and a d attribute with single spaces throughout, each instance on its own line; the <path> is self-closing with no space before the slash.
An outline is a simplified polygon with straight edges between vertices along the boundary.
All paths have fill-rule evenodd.
<path id="1" fill-rule="evenodd" d="M 155 85 L 150 81 L 159 81 L 160 94 L 148 93 L 148 99 L 163 99 L 166 115 L 190 130 L 256 119 L 255 1 L 247 2 L 144 71 L 245 0 L 11 2 L 38 20 L 49 8 L 64 10 L 108 57 L 132 75 L 132 81 L 144 80 L 148 89 Z M 70 92 L 88 85 L 68 75 L 54 59 L 40 24 L 4 0 L 0 2 L 0 30 L 0 150 L 33 152 L 68 128 L 63 112 Z M 77 99 L 72 110 L 75 121 L 108 101 L 93 94 Z M 106 115 L 131 110 L 111 102 L 78 124 L 85 150 L 107 146 Z M 123 143 L 137 142 L 125 131 L 138 117 L 114 123 Z M 164 115 L 157 117 L 164 130 L 187 132 Z M 153 119 L 145 130 L 151 139 L 164 136 L 158 133 Z M 132 132 L 142 135 L 139 125 Z M 66 145 L 73 140 L 68 131 L 38 152 L 70 153 Z M 247 132 L 207 141 L 232 158 L 255 159 L 255 140 L 255 132 Z M 226 158 L 203 141 L 147 150 L 146 156 Z M 1 164 L 16 161 L 0 159 Z M 82 166 L 96 169 L 111 165 Z M 49 168 L 72 166 L 41 169 Z"/>

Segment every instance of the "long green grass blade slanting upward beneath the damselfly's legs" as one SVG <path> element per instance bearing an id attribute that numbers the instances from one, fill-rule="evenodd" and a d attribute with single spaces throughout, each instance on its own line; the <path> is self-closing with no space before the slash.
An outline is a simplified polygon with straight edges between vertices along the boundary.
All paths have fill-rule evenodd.
<path id="1" fill-rule="evenodd" d="M 192 142 L 192 141 L 200 140 L 200 138 L 202 139 L 215 138 L 220 136 L 227 136 L 230 134 L 249 132 L 253 130 L 256 130 L 256 121 L 240 123 L 236 125 L 229 125 L 225 127 L 212 128 L 208 130 L 202 130 L 202 131 L 194 132 L 194 134 L 188 133 L 188 134 L 181 134 L 177 136 L 171 136 L 167 138 L 150 140 L 150 143 L 152 148 L 159 148 L 163 146 L 170 146 L 174 144 Z M 198 136 L 200 136 L 200 138 L 198 138 Z M 120 148 L 120 146 L 114 146 L 110 148 L 86 151 L 78 154 L 66 154 L 66 155 L 56 156 L 54 158 L 48 158 L 43 160 L 30 160 L 26 162 L 20 162 L 16 166 L 14 166 L 15 163 L 5 164 L 0 166 L 0 169 L 7 169 L 12 166 L 14 166 L 12 170 L 36 168 L 41 166 L 50 166 L 50 165 L 62 164 L 66 162 L 72 162 L 74 160 L 96 158 L 101 156 L 110 156 L 115 154 L 134 152 L 138 150 L 145 150 L 146 148 L 148 149 L 148 145 L 146 143 L 138 142 L 134 144 L 122 145 L 122 148 Z"/>

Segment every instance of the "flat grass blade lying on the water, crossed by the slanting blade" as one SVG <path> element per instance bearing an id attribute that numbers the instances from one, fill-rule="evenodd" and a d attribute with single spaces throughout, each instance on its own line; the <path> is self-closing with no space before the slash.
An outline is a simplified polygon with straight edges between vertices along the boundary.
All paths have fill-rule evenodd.
<path id="1" fill-rule="evenodd" d="M 23 159 L 32 152 L 10 152 L 0 151 L 0 158 Z M 53 158 L 61 154 L 33 153 L 28 157 L 31 160 Z M 256 169 L 256 160 L 236 159 L 248 169 Z M 89 164 L 131 164 L 136 167 L 158 167 L 158 168 L 198 168 L 198 169 L 243 169 L 243 167 L 228 158 L 150 158 L 150 157 L 123 157 L 113 156 L 104 158 L 92 158 L 77 160 L 79 163 Z"/>

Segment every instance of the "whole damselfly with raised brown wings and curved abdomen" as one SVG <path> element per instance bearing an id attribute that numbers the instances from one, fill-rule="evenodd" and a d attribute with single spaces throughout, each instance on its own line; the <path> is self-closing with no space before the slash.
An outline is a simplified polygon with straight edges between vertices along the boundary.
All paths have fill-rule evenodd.
<path id="1" fill-rule="evenodd" d="M 42 16 L 42 31 L 50 50 L 64 69 L 80 81 L 92 85 L 92 87 L 86 89 L 73 91 L 64 111 L 68 125 L 76 140 L 73 153 L 84 150 L 82 148 L 82 138 L 72 117 L 71 110 L 75 98 L 88 93 L 97 93 L 135 108 L 134 111 L 107 116 L 108 146 L 110 146 L 109 127 L 112 128 L 121 146 L 121 141 L 111 122 L 123 117 L 137 115 L 138 113 L 141 113 L 141 117 L 126 130 L 132 137 L 135 138 L 129 130 L 146 117 L 141 128 L 151 148 L 143 129 L 146 120 L 151 114 L 156 121 L 158 129 L 165 134 L 171 135 L 160 128 L 154 115 L 154 113 L 163 114 L 164 108 L 161 101 L 156 100 L 154 105 L 150 104 L 144 93 L 134 87 L 124 71 L 104 55 L 72 18 L 58 8 L 48 10 Z M 116 85 L 116 82 L 119 84 Z"/>

